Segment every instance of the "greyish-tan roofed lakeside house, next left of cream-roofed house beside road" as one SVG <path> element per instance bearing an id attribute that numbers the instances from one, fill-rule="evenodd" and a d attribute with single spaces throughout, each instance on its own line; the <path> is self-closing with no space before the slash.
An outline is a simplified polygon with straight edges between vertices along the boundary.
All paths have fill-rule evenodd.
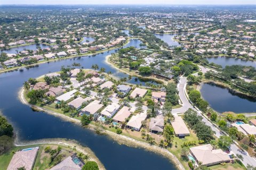
<path id="1" fill-rule="evenodd" d="M 157 115 L 156 117 L 150 118 L 149 131 L 152 133 L 158 133 L 164 131 L 164 116 Z"/>

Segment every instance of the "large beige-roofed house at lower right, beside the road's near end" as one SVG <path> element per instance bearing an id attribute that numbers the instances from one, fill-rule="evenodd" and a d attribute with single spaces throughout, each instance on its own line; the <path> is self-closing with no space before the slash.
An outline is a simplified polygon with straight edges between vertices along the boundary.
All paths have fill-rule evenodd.
<path id="1" fill-rule="evenodd" d="M 191 155 L 196 162 L 209 166 L 229 162 L 230 158 L 226 152 L 221 149 L 213 149 L 210 144 L 189 148 Z"/>

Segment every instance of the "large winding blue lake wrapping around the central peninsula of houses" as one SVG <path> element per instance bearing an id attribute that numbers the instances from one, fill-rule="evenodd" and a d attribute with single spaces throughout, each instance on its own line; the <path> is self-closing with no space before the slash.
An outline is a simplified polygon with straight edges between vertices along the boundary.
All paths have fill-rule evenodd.
<path id="1" fill-rule="evenodd" d="M 140 40 L 131 40 L 128 46 L 139 47 Z M 44 138 L 74 139 L 94 151 L 106 169 L 176 169 L 166 158 L 144 149 L 118 145 L 105 135 L 97 135 L 74 123 L 61 120 L 59 117 L 43 112 L 33 112 L 27 105 L 20 103 L 17 93 L 22 83 L 29 78 L 59 71 L 62 65 L 80 63 L 84 68 L 90 68 L 92 64 L 105 67 L 118 77 L 127 76 L 117 72 L 116 69 L 105 63 L 106 55 L 114 53 L 98 54 L 95 57 L 76 57 L 55 62 L 39 64 L 38 67 L 24 69 L 23 72 L 12 71 L 0 74 L 0 110 L 3 115 L 14 125 L 21 141 L 31 141 Z M 7 89 L 6 89 L 7 88 Z M 113 163 L 115 161 L 115 163 Z M 134 166 L 136 165 L 136 166 Z M 117 168 L 118 167 L 118 168 Z"/>

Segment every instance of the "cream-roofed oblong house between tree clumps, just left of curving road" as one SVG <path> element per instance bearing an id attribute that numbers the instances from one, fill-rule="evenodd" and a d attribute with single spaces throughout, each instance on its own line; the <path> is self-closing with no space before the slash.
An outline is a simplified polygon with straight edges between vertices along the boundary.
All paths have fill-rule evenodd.
<path id="1" fill-rule="evenodd" d="M 187 125 L 183 121 L 182 117 L 175 116 L 174 121 L 172 121 L 171 124 L 177 137 L 185 137 L 190 134 Z"/>

